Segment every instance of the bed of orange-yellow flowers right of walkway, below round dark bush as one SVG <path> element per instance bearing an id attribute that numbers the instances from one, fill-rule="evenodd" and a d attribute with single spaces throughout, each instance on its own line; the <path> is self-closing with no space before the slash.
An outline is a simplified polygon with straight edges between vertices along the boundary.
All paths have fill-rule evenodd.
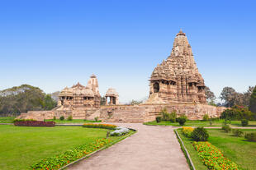
<path id="1" fill-rule="evenodd" d="M 193 142 L 194 148 L 197 150 L 199 157 L 208 169 L 214 170 L 238 170 L 236 163 L 230 161 L 223 156 L 220 149 L 211 145 L 209 142 Z"/>

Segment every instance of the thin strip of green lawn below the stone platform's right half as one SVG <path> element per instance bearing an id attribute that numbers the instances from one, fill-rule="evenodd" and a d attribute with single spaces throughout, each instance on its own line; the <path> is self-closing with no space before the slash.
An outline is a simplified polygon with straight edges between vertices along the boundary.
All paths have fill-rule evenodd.
<path id="1" fill-rule="evenodd" d="M 224 120 L 212 122 L 211 126 L 222 126 Z M 156 121 L 153 122 L 145 122 L 145 125 L 161 125 L 161 126 L 180 126 L 178 122 L 166 122 L 162 121 L 157 123 Z M 187 121 L 184 126 L 210 126 L 209 121 Z M 241 126 L 240 121 L 231 121 L 231 126 Z M 256 126 L 256 121 L 249 121 L 249 126 Z"/>

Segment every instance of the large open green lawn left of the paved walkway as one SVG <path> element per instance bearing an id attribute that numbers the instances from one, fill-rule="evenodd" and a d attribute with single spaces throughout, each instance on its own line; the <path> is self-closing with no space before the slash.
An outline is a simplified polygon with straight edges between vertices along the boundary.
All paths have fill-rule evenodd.
<path id="1" fill-rule="evenodd" d="M 0 169 L 29 169 L 33 163 L 73 146 L 106 137 L 106 129 L 82 126 L 23 127 L 0 125 Z M 110 137 L 117 140 L 120 137 Z"/>

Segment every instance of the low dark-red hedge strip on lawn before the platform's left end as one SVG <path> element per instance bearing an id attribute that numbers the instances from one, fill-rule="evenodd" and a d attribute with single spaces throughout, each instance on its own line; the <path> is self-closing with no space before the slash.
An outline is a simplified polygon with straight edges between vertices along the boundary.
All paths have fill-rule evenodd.
<path id="1" fill-rule="evenodd" d="M 14 122 L 15 126 L 55 126 L 55 122 L 44 122 L 44 121 L 34 121 L 34 120 L 22 120 Z"/>

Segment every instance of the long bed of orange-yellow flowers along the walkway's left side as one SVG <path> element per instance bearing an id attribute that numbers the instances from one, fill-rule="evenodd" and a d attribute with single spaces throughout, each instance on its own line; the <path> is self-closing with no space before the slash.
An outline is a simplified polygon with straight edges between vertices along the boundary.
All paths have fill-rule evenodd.
<path id="1" fill-rule="evenodd" d="M 43 159 L 38 163 L 31 165 L 33 170 L 40 169 L 59 169 L 64 165 L 69 164 L 77 159 L 80 159 L 93 151 L 102 148 L 102 146 L 110 143 L 111 140 L 100 139 L 93 140 L 90 144 L 78 145 L 77 147 L 70 149 L 64 154 L 55 155 L 53 157 Z"/>

